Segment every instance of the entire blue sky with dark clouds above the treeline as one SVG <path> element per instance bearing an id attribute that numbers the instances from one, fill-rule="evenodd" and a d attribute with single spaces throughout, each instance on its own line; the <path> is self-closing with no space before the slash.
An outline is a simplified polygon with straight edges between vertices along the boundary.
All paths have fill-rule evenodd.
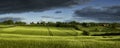
<path id="1" fill-rule="evenodd" d="M 120 0 L 0 0 L 0 21 L 120 22 Z"/>

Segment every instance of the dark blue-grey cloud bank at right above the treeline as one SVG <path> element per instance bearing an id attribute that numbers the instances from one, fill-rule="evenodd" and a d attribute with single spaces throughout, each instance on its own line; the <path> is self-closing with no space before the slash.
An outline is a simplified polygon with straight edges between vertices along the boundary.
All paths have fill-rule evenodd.
<path id="1" fill-rule="evenodd" d="M 120 22 L 120 6 L 86 7 L 75 11 L 75 18 L 79 17 L 99 22 Z"/>

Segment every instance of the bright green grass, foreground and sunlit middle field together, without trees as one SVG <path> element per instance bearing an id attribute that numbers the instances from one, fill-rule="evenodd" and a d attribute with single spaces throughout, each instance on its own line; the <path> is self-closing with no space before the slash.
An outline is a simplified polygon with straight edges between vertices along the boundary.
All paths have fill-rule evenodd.
<path id="1" fill-rule="evenodd" d="M 74 28 L 1 25 L 0 48 L 120 48 L 120 36 L 81 33 Z"/>

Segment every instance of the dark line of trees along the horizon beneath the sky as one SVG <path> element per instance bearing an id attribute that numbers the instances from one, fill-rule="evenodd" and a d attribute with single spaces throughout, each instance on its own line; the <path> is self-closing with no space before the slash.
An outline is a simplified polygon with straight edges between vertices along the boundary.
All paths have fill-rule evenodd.
<path id="1" fill-rule="evenodd" d="M 27 25 L 26 22 L 22 21 L 13 21 L 13 20 L 6 20 L 1 22 L 0 24 L 7 24 L 7 25 Z M 29 25 L 40 25 L 40 26 L 56 26 L 56 27 L 75 27 L 77 29 L 77 25 L 81 25 L 83 27 L 91 27 L 91 26 L 104 26 L 110 28 L 120 27 L 120 23 L 79 23 L 76 21 L 71 22 L 31 22 Z"/>

